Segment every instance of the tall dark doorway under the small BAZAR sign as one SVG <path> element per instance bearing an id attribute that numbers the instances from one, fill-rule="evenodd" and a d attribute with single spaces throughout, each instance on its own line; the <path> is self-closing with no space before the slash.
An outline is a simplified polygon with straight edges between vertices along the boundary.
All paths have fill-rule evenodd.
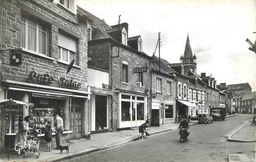
<path id="1" fill-rule="evenodd" d="M 107 96 L 95 95 L 95 130 L 107 129 Z"/>

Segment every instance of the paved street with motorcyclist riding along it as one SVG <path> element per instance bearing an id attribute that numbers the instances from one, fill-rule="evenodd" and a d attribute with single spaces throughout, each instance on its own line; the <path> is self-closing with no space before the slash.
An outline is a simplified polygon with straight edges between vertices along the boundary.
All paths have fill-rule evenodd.
<path id="1" fill-rule="evenodd" d="M 211 124 L 196 124 L 189 128 L 188 142 L 180 143 L 178 130 L 155 134 L 67 161 L 228 161 L 228 154 L 245 153 L 255 156 L 255 143 L 228 142 L 228 132 L 252 115 L 239 115 Z"/>

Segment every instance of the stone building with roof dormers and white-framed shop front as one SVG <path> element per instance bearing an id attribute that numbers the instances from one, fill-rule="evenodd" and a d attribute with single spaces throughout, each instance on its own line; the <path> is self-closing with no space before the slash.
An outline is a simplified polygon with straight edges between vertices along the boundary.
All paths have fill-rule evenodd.
<path id="1" fill-rule="evenodd" d="M 141 36 L 128 38 L 128 23 L 109 26 L 87 11 L 83 11 L 83 14 L 89 19 L 88 65 L 109 73 L 109 89 L 98 86 L 92 90 L 93 96 L 108 97 L 107 104 L 110 107 L 105 115 L 105 129 L 111 131 L 140 126 L 150 117 L 151 103 L 150 57 L 142 52 Z M 99 107 L 97 100 L 93 100 L 91 112 L 96 112 Z M 93 119 L 97 113 L 92 115 Z M 97 119 L 91 123 L 97 123 Z"/>

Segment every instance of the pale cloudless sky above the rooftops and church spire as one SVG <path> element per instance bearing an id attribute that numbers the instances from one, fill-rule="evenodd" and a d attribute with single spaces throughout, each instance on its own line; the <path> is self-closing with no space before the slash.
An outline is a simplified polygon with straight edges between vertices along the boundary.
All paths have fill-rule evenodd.
<path id="1" fill-rule="evenodd" d="M 256 91 L 256 54 L 246 43 L 256 40 L 256 0 L 78 0 L 78 6 L 109 25 L 121 15 L 128 36 L 141 35 L 147 55 L 160 33 L 160 57 L 170 63 L 180 63 L 189 35 L 197 74 L 212 74 L 217 84 L 249 83 Z"/>

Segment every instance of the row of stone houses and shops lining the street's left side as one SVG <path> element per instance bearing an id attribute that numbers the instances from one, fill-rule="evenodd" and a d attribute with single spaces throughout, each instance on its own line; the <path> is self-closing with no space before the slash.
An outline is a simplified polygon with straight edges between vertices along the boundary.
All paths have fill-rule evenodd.
<path id="1" fill-rule="evenodd" d="M 197 74 L 189 36 L 180 63 L 170 63 L 144 53 L 128 23 L 110 26 L 76 0 L 2 0 L 0 7 L 0 99 L 33 103 L 31 110 L 1 107 L 1 148 L 20 115 L 41 127 L 57 112 L 68 138 L 78 139 L 147 119 L 178 123 L 211 107 L 232 111 L 225 84 Z"/>

